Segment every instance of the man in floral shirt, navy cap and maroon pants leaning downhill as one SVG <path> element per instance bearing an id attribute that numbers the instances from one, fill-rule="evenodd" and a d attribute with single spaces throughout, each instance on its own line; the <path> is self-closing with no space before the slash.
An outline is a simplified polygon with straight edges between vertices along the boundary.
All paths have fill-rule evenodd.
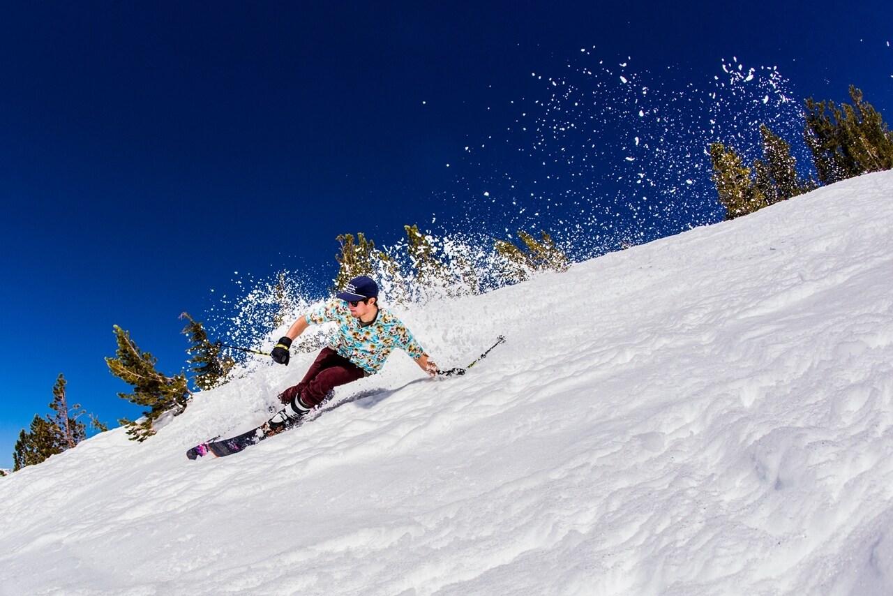
<path id="1" fill-rule="evenodd" d="M 322 348 L 304 379 L 280 393 L 285 404 L 267 423 L 270 434 L 294 425 L 338 385 L 377 373 L 394 348 L 402 348 L 430 376 L 438 365 L 428 357 L 406 325 L 379 307 L 379 286 L 370 277 L 355 277 L 324 305 L 301 316 L 272 349 L 270 356 L 288 365 L 291 342 L 312 324 L 338 323 L 329 345 Z"/>

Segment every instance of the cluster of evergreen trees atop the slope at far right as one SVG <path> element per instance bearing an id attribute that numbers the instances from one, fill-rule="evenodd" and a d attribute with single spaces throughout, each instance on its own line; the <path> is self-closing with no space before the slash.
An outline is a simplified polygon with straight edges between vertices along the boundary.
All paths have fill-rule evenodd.
<path id="1" fill-rule="evenodd" d="M 752 166 L 734 147 L 710 145 L 713 180 L 726 219 L 751 214 L 779 201 L 868 172 L 893 168 L 893 132 L 862 91 L 850 86 L 853 105 L 805 100 L 804 139 L 818 180 L 797 173 L 790 145 L 760 125 L 763 158 Z"/>

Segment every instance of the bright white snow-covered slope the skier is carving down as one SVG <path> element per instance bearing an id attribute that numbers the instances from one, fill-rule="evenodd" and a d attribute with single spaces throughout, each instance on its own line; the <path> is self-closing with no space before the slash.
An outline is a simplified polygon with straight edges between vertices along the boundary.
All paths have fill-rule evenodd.
<path id="1" fill-rule="evenodd" d="M 312 354 L 150 441 L 0 479 L 3 594 L 893 593 L 893 172 L 405 320 L 233 457 Z M 276 333 L 274 333 L 276 335 Z M 278 336 L 278 335 L 277 335 Z"/>

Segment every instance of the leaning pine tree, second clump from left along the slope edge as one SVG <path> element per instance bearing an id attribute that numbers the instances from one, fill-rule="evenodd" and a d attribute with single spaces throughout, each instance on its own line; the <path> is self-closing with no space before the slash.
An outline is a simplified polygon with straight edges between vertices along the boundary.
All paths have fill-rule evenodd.
<path id="1" fill-rule="evenodd" d="M 114 325 L 118 349 L 115 357 L 105 358 L 105 363 L 113 375 L 133 385 L 132 393 L 119 393 L 121 399 L 147 407 L 145 419 L 136 423 L 122 418 L 121 424 L 128 428 L 130 441 L 146 441 L 155 433 L 153 424 L 167 412 L 179 416 L 187 407 L 191 395 L 185 374 L 166 376 L 155 370 L 157 358 L 149 352 L 140 351 L 130 339 L 129 332 Z"/>

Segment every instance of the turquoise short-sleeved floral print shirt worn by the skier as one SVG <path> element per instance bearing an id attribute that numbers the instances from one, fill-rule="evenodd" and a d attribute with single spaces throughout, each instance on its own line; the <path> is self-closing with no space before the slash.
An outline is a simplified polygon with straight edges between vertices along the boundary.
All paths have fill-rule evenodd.
<path id="1" fill-rule="evenodd" d="M 350 314 L 344 300 L 332 298 L 305 315 L 308 324 L 334 322 L 338 325 L 329 339 L 330 348 L 368 374 L 379 372 L 394 348 L 405 350 L 413 359 L 424 355 L 406 325 L 387 309 L 380 308 L 372 323 L 363 326 Z"/>

